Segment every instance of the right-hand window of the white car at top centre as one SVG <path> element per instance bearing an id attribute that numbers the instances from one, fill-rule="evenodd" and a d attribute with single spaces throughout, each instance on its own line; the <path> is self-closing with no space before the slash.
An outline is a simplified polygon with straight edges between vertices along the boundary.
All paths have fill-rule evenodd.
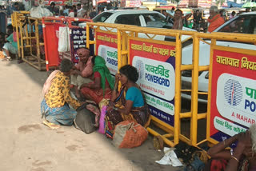
<path id="1" fill-rule="evenodd" d="M 166 18 L 161 14 L 142 14 L 147 27 L 162 28 L 166 26 Z"/>

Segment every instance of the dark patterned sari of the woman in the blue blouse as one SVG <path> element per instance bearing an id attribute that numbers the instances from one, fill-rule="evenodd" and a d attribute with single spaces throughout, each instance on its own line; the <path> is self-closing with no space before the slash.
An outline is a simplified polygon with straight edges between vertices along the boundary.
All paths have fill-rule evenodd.
<path id="1" fill-rule="evenodd" d="M 126 97 L 125 97 L 125 87 L 123 86 L 120 89 L 118 97 L 114 101 L 115 106 L 119 108 L 124 108 L 126 105 Z M 140 89 L 141 90 L 141 89 Z M 141 90 L 142 93 L 142 90 Z M 143 93 L 142 93 L 143 95 Z M 142 107 L 133 107 L 128 115 L 123 113 L 119 113 L 117 110 L 111 109 L 107 111 L 105 117 L 105 129 L 106 136 L 112 138 L 114 134 L 114 126 L 118 125 L 118 123 L 122 121 L 136 121 L 138 124 L 147 127 L 150 125 L 150 109 L 146 104 L 146 99 L 143 95 L 144 105 Z"/>

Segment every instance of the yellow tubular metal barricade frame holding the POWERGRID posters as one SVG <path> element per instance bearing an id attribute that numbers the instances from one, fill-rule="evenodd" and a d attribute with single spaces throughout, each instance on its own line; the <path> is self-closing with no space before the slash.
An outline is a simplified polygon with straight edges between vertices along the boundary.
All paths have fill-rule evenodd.
<path id="1" fill-rule="evenodd" d="M 160 121 L 158 118 L 151 116 L 151 120 L 154 121 L 154 124 L 158 126 L 158 128 L 166 131 L 166 134 L 160 134 L 154 129 L 150 127 L 147 128 L 150 133 L 154 136 L 160 136 L 166 142 L 167 145 L 174 146 L 177 145 L 179 141 L 185 141 L 189 145 L 198 146 L 206 141 L 216 144 L 218 141 L 214 141 L 210 138 L 210 121 L 207 118 L 210 118 L 210 90 L 211 85 L 209 83 L 209 90 L 207 92 L 198 92 L 198 72 L 209 70 L 210 77 L 209 82 L 211 82 L 211 72 L 212 72 L 212 55 L 213 50 L 216 48 L 239 51 L 244 49 L 238 48 L 230 48 L 230 47 L 219 47 L 215 46 L 217 40 L 222 41 L 231 41 L 231 42 L 252 42 L 256 45 L 256 35 L 248 35 L 248 34 L 226 34 L 226 33 L 212 33 L 212 34 L 202 34 L 198 32 L 191 31 L 182 31 L 182 30 L 166 30 L 166 29 L 155 29 L 155 28 L 144 28 L 138 26 L 124 26 L 118 24 L 108 24 L 108 23 L 86 23 L 86 31 L 89 33 L 89 29 L 92 26 L 104 26 L 117 30 L 118 34 L 118 69 L 126 65 L 128 63 L 127 55 L 129 55 L 129 48 L 127 45 L 127 38 L 138 38 L 138 34 L 146 34 L 149 39 L 154 39 L 154 36 L 150 36 L 149 34 L 158 34 L 158 35 L 166 35 L 172 36 L 176 38 L 176 42 L 174 43 L 176 46 L 176 60 L 175 60 L 175 99 L 174 99 L 174 127 L 167 125 L 164 121 Z M 108 34 L 110 34 L 108 32 Z M 190 38 L 193 38 L 193 62 L 190 65 L 182 65 L 182 43 L 186 42 L 181 41 L 182 35 L 189 35 Z M 190 39 L 188 38 L 188 39 Z M 210 38 L 211 42 L 208 43 L 203 40 L 203 38 Z M 138 38 L 138 40 L 142 40 Z M 143 41 L 145 39 L 143 38 Z M 154 42 L 158 42 L 155 41 Z M 162 42 L 162 41 L 160 41 Z M 210 45 L 210 66 L 199 66 L 199 42 L 206 42 Z M 90 44 L 94 44 L 95 41 L 90 41 L 89 35 L 87 34 L 86 38 L 86 46 L 89 47 Z M 169 42 L 170 43 L 170 42 Z M 173 45 L 173 44 L 172 44 Z M 255 53 L 255 50 L 244 50 L 245 53 Z M 128 61 L 127 61 L 128 60 Z M 191 89 L 182 89 L 181 83 L 181 72 L 183 70 L 192 70 L 192 88 Z M 181 92 L 191 92 L 191 109 L 189 112 L 181 112 Z M 208 95 L 208 107 L 206 113 L 198 113 L 198 94 L 207 94 Z M 181 133 L 181 119 L 182 118 L 190 118 L 190 138 L 182 135 Z M 206 137 L 198 142 L 198 120 L 207 119 L 206 122 Z M 174 137 L 173 140 L 170 140 L 170 137 Z"/>

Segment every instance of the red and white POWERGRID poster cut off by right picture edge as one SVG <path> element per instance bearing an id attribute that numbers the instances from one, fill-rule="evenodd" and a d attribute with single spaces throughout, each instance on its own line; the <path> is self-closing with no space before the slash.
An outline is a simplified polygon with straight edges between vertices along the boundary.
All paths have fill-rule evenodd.
<path id="1" fill-rule="evenodd" d="M 256 56 L 214 50 L 210 137 L 223 141 L 256 121 Z"/>

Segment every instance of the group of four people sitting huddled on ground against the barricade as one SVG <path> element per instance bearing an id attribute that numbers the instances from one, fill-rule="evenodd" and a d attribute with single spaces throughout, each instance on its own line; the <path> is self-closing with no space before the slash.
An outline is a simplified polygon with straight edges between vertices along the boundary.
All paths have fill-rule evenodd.
<path id="1" fill-rule="evenodd" d="M 101 56 L 90 56 L 87 48 L 79 49 L 78 55 L 80 61 L 76 66 L 70 60 L 63 59 L 59 70 L 47 78 L 42 90 L 43 123 L 52 129 L 60 125 L 72 125 L 75 109 L 86 101 L 94 101 L 100 111 L 99 104 L 107 101 L 107 137 L 113 137 L 114 126 L 122 121 L 136 121 L 148 126 L 150 110 L 142 90 L 135 83 L 138 80 L 137 69 L 130 65 L 122 66 L 119 74 L 113 78 Z M 74 97 L 70 92 L 74 92 Z"/>

